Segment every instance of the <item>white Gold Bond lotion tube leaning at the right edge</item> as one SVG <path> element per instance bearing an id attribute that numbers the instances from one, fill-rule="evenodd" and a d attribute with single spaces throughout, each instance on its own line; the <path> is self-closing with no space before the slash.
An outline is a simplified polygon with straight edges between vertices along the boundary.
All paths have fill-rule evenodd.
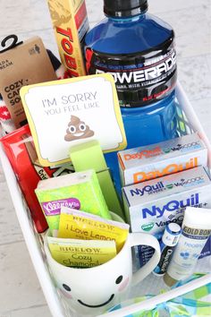
<path id="1" fill-rule="evenodd" d="M 187 207 L 181 228 L 181 237 L 164 276 L 169 287 L 192 274 L 198 256 L 211 235 L 211 210 Z"/>

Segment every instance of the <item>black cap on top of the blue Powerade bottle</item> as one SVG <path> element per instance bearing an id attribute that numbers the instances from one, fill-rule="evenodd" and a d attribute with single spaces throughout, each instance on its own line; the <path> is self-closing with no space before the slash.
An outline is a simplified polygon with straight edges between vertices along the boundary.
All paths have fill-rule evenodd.
<path id="1" fill-rule="evenodd" d="M 104 0 L 104 13 L 110 17 L 130 17 L 147 10 L 148 0 Z"/>

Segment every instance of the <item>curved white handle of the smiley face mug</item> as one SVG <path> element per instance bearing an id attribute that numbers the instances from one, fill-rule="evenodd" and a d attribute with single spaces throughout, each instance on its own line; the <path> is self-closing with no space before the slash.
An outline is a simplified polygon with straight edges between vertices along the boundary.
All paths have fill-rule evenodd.
<path id="1" fill-rule="evenodd" d="M 156 268 L 156 265 L 160 261 L 160 245 L 155 236 L 144 234 L 141 232 L 134 232 L 130 234 L 131 247 L 135 245 L 148 245 L 155 249 L 155 253 L 152 258 L 142 268 L 137 270 L 132 275 L 131 284 L 136 285 L 142 279 L 146 278 L 148 274 Z"/>

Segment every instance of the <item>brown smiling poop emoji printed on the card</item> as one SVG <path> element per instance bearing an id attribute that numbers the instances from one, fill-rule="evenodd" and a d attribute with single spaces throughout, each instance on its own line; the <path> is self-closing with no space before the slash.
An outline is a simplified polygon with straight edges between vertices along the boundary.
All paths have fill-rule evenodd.
<path id="1" fill-rule="evenodd" d="M 89 125 L 85 124 L 83 121 L 80 121 L 78 116 L 71 116 L 71 121 L 68 124 L 66 133 L 67 134 L 64 136 L 65 141 L 86 139 L 95 134 L 89 129 Z"/>

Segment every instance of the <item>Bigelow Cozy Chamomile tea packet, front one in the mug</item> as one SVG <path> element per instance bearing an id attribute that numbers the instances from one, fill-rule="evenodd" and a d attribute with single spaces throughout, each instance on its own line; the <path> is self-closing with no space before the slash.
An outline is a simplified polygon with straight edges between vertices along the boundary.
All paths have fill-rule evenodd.
<path id="1" fill-rule="evenodd" d="M 52 257 L 60 264 L 77 268 L 91 268 L 114 258 L 114 241 L 60 239 L 47 236 Z"/>

